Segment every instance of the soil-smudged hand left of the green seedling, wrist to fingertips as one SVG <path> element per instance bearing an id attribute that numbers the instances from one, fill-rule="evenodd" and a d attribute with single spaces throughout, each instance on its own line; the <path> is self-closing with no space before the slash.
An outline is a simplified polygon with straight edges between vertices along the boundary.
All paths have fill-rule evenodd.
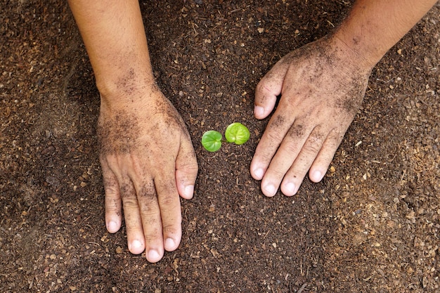
<path id="1" fill-rule="evenodd" d="M 98 119 L 105 188 L 105 222 L 119 230 L 122 208 L 129 251 L 150 262 L 181 241 L 179 195 L 193 197 L 198 165 L 183 120 L 153 86 L 129 103 L 103 102 Z"/>

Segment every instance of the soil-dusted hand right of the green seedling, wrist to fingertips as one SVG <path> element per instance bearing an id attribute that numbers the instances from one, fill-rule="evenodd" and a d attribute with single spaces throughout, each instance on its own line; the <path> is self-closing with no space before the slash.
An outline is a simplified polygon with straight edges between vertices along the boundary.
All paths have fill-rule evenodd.
<path id="1" fill-rule="evenodd" d="M 304 176 L 319 182 L 358 110 L 371 67 L 342 41 L 320 39 L 283 57 L 261 79 L 254 115 L 280 102 L 251 163 L 266 196 L 295 195 Z"/>

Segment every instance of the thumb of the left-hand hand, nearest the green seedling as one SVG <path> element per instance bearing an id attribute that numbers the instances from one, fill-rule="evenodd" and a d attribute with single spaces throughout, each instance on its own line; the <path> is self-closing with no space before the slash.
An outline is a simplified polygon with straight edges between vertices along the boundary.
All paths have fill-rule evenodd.
<path id="1" fill-rule="evenodd" d="M 176 185 L 179 195 L 189 200 L 193 198 L 195 178 L 198 174 L 198 164 L 193 144 L 189 136 L 181 140 L 181 148 L 176 157 Z"/>

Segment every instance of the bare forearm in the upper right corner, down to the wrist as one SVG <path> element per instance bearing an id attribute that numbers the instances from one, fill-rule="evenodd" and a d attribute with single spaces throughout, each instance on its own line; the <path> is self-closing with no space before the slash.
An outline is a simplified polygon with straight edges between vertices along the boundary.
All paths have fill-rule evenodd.
<path id="1" fill-rule="evenodd" d="M 373 67 L 436 0 L 358 0 L 335 37 Z"/>

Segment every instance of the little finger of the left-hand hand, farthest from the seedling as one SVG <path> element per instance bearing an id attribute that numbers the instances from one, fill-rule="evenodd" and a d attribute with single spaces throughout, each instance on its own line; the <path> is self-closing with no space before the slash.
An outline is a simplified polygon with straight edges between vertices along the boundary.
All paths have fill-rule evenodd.
<path id="1" fill-rule="evenodd" d="M 104 159 L 101 160 L 103 183 L 105 190 L 105 226 L 108 232 L 116 233 L 122 223 L 122 202 L 119 193 L 119 183 L 115 174 Z"/>

